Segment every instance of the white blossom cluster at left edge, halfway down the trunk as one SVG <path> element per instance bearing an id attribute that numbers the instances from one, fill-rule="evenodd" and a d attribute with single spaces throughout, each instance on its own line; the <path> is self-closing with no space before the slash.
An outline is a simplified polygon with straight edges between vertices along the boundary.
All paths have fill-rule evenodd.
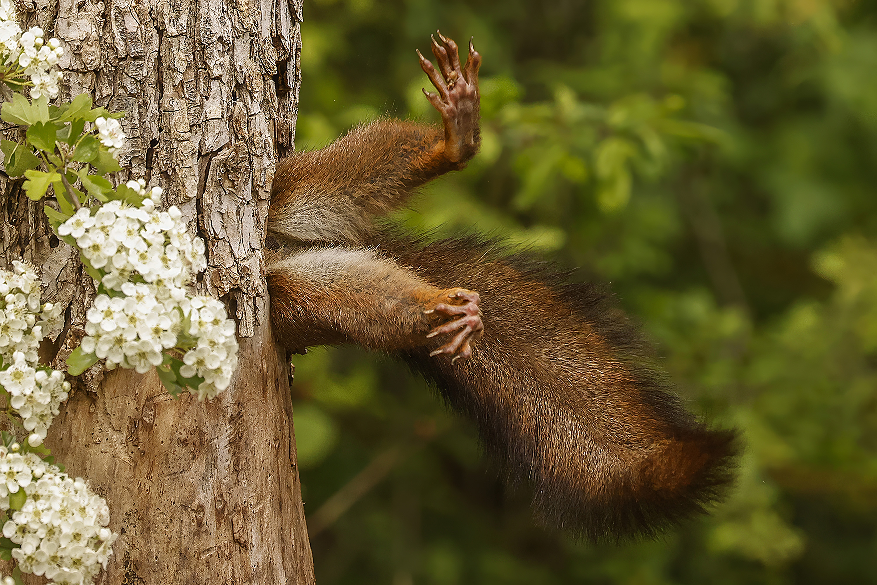
<path id="1" fill-rule="evenodd" d="M 61 307 L 39 303 L 39 281 L 32 268 L 13 261 L 15 272 L 0 270 L 0 385 L 9 405 L 32 432 L 28 442 L 46 439 L 49 424 L 67 400 L 70 383 L 63 373 L 39 366 L 39 342 L 61 324 Z"/>

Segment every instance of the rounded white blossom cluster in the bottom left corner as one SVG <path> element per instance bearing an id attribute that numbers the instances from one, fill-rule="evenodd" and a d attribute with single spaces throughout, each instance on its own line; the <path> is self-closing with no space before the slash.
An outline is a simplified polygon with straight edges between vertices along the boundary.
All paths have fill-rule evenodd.
<path id="1" fill-rule="evenodd" d="M 106 501 L 82 478 L 70 478 L 34 453 L 16 453 L 15 444 L 11 448 L 0 446 L 0 510 L 11 517 L 4 537 L 19 545 L 12 558 L 22 573 L 46 575 L 54 583 L 92 583 L 118 538 L 106 527 Z M 24 505 L 10 510 L 10 495 L 22 489 Z"/>

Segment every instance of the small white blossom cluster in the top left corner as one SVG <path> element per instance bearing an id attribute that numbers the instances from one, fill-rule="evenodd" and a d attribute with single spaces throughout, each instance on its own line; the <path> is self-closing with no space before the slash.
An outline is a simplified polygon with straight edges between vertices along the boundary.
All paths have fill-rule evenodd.
<path id="1" fill-rule="evenodd" d="M 61 71 L 56 69 L 64 56 L 64 47 L 58 39 L 44 39 L 43 29 L 34 26 L 21 32 L 18 15 L 12 0 L 0 0 L 0 61 L 4 65 L 18 64 L 24 75 L 30 75 L 33 87 L 31 97 L 58 96 Z"/>

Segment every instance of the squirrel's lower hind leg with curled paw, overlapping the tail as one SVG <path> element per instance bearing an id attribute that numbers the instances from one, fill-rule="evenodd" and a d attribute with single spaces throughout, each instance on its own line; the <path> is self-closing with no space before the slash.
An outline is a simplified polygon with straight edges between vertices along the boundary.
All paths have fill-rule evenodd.
<path id="1" fill-rule="evenodd" d="M 374 250 L 292 253 L 268 267 L 267 282 L 275 335 L 293 350 L 350 343 L 453 363 L 472 354 L 483 329 L 477 293 L 434 287 Z"/>

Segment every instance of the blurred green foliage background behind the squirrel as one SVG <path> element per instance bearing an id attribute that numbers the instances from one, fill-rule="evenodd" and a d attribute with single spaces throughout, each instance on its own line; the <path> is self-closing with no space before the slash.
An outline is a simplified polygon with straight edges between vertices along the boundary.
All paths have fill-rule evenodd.
<path id="1" fill-rule="evenodd" d="M 312 350 L 293 392 L 320 585 L 877 582 L 877 2 L 310 0 L 304 16 L 299 149 L 438 119 L 414 49 L 474 35 L 481 154 L 396 221 L 501 233 L 610 282 L 691 408 L 745 443 L 710 517 L 588 546 L 534 524 L 405 367 Z"/>

